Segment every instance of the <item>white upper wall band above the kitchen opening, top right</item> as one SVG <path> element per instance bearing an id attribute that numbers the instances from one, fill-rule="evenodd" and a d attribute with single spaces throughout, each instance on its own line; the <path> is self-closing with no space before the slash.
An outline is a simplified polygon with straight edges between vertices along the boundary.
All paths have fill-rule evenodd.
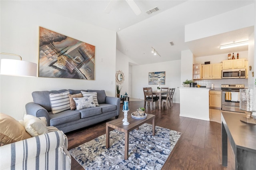
<path id="1" fill-rule="evenodd" d="M 188 24 L 185 26 L 185 42 L 254 26 L 254 11 L 254 4 L 250 4 L 199 22 Z"/>

